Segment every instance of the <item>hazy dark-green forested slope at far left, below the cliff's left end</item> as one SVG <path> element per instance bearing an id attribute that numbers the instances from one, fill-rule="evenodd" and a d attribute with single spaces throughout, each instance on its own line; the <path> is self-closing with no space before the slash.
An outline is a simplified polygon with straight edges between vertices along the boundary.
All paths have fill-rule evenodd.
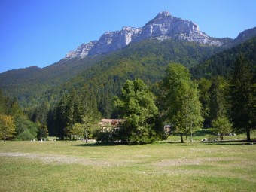
<path id="1" fill-rule="evenodd" d="M 23 102 L 24 99 L 40 95 L 69 81 L 102 58 L 104 56 L 60 60 L 43 69 L 33 66 L 3 72 L 0 74 L 0 88 L 5 96 L 17 97 Z"/>

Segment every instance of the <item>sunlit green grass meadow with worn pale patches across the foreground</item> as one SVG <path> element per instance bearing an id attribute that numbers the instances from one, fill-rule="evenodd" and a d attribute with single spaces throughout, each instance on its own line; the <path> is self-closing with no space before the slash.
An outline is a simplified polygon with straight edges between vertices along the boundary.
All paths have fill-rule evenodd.
<path id="1" fill-rule="evenodd" d="M 255 191 L 246 142 L 0 142 L 0 191 Z"/>

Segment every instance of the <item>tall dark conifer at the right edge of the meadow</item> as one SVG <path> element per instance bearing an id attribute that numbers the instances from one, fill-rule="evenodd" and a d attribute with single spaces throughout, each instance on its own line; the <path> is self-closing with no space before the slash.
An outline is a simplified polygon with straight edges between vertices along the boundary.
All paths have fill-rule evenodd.
<path id="1" fill-rule="evenodd" d="M 248 141 L 251 141 L 250 130 L 256 115 L 252 79 L 251 66 L 245 56 L 240 55 L 234 63 L 230 81 L 230 117 L 239 132 L 246 132 Z"/>

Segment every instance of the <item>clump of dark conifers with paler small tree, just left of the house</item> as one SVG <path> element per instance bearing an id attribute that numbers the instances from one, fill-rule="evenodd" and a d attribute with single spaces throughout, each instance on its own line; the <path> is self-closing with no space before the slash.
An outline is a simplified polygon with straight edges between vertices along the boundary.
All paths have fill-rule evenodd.
<path id="1" fill-rule="evenodd" d="M 50 111 L 49 132 L 59 139 L 92 138 L 94 128 L 99 128 L 100 117 L 93 91 L 73 90 Z"/>

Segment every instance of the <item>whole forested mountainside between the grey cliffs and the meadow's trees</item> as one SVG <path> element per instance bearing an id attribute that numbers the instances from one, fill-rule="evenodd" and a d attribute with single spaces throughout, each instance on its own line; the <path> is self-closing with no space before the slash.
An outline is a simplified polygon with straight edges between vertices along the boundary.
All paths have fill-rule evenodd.
<path id="1" fill-rule="evenodd" d="M 0 75 L 0 87 L 5 96 L 17 97 L 24 108 L 33 108 L 41 102 L 53 106 L 63 93 L 87 86 L 95 91 L 99 108 L 106 108 L 127 79 L 142 78 L 147 84 L 159 81 L 169 62 L 180 62 L 200 78 L 224 75 L 240 52 L 255 61 L 255 38 L 219 53 L 224 48 L 193 41 L 148 39 L 106 55 L 62 59 L 44 69 L 8 71 Z"/>

